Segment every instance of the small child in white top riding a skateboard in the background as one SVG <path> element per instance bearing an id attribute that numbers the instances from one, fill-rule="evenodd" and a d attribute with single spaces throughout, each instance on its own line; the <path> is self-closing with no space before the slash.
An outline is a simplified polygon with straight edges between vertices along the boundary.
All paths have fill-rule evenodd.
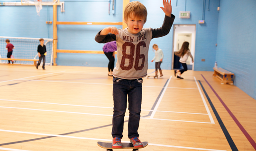
<path id="1" fill-rule="evenodd" d="M 153 49 L 155 50 L 155 57 L 151 60 L 151 62 L 153 62 L 155 60 L 155 76 L 158 76 L 157 75 L 157 68 L 159 69 L 160 77 L 164 76 L 162 74 L 162 70 L 161 70 L 161 67 L 160 67 L 161 63 L 162 63 L 162 61 L 164 59 L 164 53 L 163 53 L 163 51 L 161 49 L 158 48 L 157 44 L 153 45 Z"/>

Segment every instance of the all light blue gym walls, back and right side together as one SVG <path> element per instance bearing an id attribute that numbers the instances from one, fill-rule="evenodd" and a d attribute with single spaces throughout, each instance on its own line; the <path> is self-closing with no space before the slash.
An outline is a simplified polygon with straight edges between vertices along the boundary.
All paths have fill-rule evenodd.
<path id="1" fill-rule="evenodd" d="M 20 1 L 20 0 L 0 0 Z M 122 22 L 122 0 L 116 0 L 116 14 L 108 14 L 108 0 L 64 0 L 65 12 L 58 7 L 58 21 Z M 133 1 L 133 0 L 131 0 Z M 164 13 L 162 0 L 140 0 L 147 8 L 144 27 L 161 27 Z M 256 98 L 256 1 L 205 0 L 205 24 L 198 24 L 203 16 L 203 0 L 172 0 L 174 24 L 196 25 L 194 70 L 212 71 L 214 62 L 235 73 L 235 85 Z M 176 3 L 178 2 L 178 3 Z M 210 5 L 209 5 L 210 2 Z M 112 1 L 111 1 L 112 3 Z M 209 6 L 209 10 L 208 10 Z M 190 19 L 180 19 L 179 11 L 191 11 Z M 53 8 L 43 6 L 40 17 L 35 6 L 0 6 L 0 36 L 53 38 Z M 58 49 L 102 50 L 103 44 L 94 41 L 97 32 L 108 25 L 58 25 Z M 117 25 L 117 28 L 122 26 Z M 165 37 L 153 39 L 164 51 L 163 69 L 171 69 L 173 28 Z M 218 43 L 218 47 L 215 44 Z M 58 65 L 107 67 L 104 54 L 58 53 Z M 155 67 L 150 60 L 149 68 Z M 201 59 L 205 59 L 202 62 Z"/>

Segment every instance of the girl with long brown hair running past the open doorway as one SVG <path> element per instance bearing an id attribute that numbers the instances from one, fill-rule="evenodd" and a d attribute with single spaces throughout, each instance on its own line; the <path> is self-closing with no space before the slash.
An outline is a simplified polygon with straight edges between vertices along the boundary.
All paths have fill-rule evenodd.
<path id="1" fill-rule="evenodd" d="M 180 63 L 183 66 L 182 70 L 174 70 L 174 76 L 176 76 L 176 73 L 181 72 L 177 76 L 177 78 L 179 78 L 179 79 L 183 79 L 183 77 L 181 77 L 181 75 L 183 74 L 183 72 L 188 70 L 186 62 L 187 62 L 189 56 L 191 57 L 192 62 L 194 62 L 193 56 L 191 55 L 190 50 L 189 50 L 188 47 L 189 47 L 189 42 L 183 42 L 182 48 L 179 51 L 174 52 L 175 55 L 177 55 L 181 58 Z"/>

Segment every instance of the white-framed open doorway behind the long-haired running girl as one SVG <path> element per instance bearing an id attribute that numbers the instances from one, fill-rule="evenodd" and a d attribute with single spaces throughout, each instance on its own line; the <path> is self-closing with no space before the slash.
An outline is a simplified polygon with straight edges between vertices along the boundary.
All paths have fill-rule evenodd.
<path id="1" fill-rule="evenodd" d="M 179 51 L 183 42 L 189 42 L 190 52 L 193 59 L 195 59 L 195 33 L 196 25 L 174 25 L 172 69 L 182 68 L 179 57 L 174 55 L 174 51 Z M 186 63 L 188 70 L 194 70 L 194 63 L 192 63 L 191 57 L 188 58 Z"/>

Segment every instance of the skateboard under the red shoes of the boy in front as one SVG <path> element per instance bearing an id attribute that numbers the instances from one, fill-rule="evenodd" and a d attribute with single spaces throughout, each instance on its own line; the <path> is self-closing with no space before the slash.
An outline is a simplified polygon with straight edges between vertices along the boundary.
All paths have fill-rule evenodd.
<path id="1" fill-rule="evenodd" d="M 133 149 L 132 151 L 138 151 L 140 148 L 144 148 L 148 145 L 148 142 L 142 142 L 143 147 L 135 148 L 133 147 L 132 143 L 122 143 L 123 148 L 112 148 L 112 143 L 104 143 L 104 142 L 98 142 L 98 146 L 101 148 L 106 149 L 106 151 L 113 151 L 113 149 Z"/>

